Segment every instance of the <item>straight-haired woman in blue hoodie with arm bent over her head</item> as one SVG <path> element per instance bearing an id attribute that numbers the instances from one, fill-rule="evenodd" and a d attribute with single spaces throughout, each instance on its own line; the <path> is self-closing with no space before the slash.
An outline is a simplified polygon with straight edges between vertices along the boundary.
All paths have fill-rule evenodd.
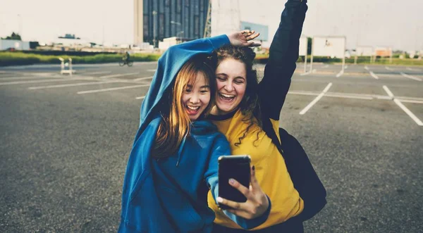
<path id="1" fill-rule="evenodd" d="M 231 154 L 226 137 L 204 116 L 213 103 L 214 69 L 206 56 L 221 46 L 254 45 L 258 34 L 197 39 L 169 48 L 161 56 L 142 103 L 125 173 L 118 232 L 211 232 L 214 212 L 202 192 L 204 181 L 218 199 L 218 157 Z M 255 182 L 252 172 L 252 185 Z M 259 191 L 259 190 L 258 190 Z M 218 199 L 219 200 L 219 199 Z M 262 224 L 271 204 L 240 218 L 225 214 L 244 229 Z"/>

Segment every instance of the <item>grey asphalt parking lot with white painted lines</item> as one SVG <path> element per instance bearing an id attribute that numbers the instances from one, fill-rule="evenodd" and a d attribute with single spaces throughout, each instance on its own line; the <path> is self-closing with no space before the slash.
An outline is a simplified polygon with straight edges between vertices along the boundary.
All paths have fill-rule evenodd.
<path id="1" fill-rule="evenodd" d="M 156 67 L 0 68 L 0 232 L 117 231 Z M 423 232 L 423 67 L 306 70 L 298 64 L 281 111 L 328 192 L 305 232 Z"/>

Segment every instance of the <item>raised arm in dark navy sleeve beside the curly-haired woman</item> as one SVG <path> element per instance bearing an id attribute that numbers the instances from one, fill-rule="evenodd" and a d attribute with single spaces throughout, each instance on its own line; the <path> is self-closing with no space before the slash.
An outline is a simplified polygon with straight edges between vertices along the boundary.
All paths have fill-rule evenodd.
<path id="1" fill-rule="evenodd" d="M 307 0 L 288 0 L 271 42 L 269 61 L 259 83 L 259 98 L 262 112 L 274 120 L 279 120 L 295 71 L 306 11 Z"/>

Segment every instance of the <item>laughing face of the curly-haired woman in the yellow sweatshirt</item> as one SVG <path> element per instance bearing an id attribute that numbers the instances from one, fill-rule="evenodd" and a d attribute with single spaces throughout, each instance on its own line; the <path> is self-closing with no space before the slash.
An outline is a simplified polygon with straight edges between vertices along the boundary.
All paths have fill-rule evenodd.
<path id="1" fill-rule="evenodd" d="M 216 68 L 215 115 L 231 113 L 240 105 L 247 89 L 245 64 L 233 58 L 226 58 Z"/>

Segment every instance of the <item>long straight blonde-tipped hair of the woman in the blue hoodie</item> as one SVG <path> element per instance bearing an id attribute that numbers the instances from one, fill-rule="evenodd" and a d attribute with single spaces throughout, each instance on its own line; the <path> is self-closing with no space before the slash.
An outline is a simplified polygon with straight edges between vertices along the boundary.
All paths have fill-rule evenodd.
<path id="1" fill-rule="evenodd" d="M 204 109 L 201 117 L 208 115 L 214 105 L 214 92 L 216 92 L 216 80 L 214 70 L 208 63 L 207 58 L 191 58 L 180 69 L 171 92 L 167 94 L 167 103 L 161 111 L 161 123 L 156 134 L 156 141 L 152 155 L 156 158 L 171 156 L 178 151 L 184 137 L 190 134 L 191 120 L 185 111 L 181 99 L 188 85 L 193 85 L 197 75 L 201 73 L 210 87 L 210 102 Z M 165 98 L 166 99 L 166 98 Z"/>

